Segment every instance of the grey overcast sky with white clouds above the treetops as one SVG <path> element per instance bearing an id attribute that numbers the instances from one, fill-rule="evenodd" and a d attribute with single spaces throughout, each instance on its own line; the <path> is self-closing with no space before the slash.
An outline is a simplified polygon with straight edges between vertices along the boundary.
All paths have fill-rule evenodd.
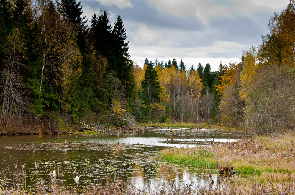
<path id="1" fill-rule="evenodd" d="M 78 2 L 78 0 L 77 0 Z M 148 60 L 181 58 L 186 68 L 199 62 L 212 70 L 240 62 L 242 51 L 259 46 L 268 33 L 273 12 L 289 0 L 81 0 L 83 16 L 91 19 L 100 8 L 114 25 L 121 16 L 131 59 L 141 67 Z"/>

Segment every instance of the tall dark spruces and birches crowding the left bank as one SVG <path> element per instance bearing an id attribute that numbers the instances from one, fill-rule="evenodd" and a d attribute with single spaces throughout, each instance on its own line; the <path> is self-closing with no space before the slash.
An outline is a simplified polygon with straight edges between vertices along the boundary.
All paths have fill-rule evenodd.
<path id="1" fill-rule="evenodd" d="M 2 128 L 53 130 L 132 112 L 136 88 L 123 21 L 118 16 L 112 25 L 103 9 L 89 25 L 85 17 L 75 0 L 0 1 Z"/>

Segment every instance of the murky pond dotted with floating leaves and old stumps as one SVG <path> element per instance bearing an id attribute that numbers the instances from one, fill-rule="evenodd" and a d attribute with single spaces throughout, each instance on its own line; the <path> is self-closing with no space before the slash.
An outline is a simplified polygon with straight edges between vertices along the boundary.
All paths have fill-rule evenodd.
<path id="1" fill-rule="evenodd" d="M 171 136 L 174 138 L 173 143 L 170 142 Z M 75 169 L 79 172 L 79 186 L 96 184 L 101 179 L 104 183 L 107 175 L 111 178 L 120 175 L 139 187 L 157 185 L 163 181 L 175 182 L 177 185 L 207 186 L 209 176 L 206 170 L 172 165 L 157 160 L 155 156 L 166 147 L 196 147 L 210 144 L 213 138 L 214 142 L 238 139 L 232 131 L 231 139 L 228 139 L 227 130 L 178 129 L 176 132 L 166 132 L 166 129 L 161 128 L 153 128 L 145 133 L 130 131 L 120 135 L 77 135 L 77 139 L 75 134 L 60 135 L 60 139 L 58 135 L 1 136 L 1 185 L 17 183 L 13 179 L 19 174 L 14 167 L 17 163 L 18 169 L 22 170 L 20 165 L 25 167 L 23 173 L 26 180 L 22 185 L 28 188 L 33 184 L 49 184 L 50 167 L 56 171 L 60 167 L 64 172 L 60 184 L 68 188 L 76 187 L 73 179 Z M 64 148 L 65 141 L 68 142 L 68 149 Z M 35 162 L 39 163 L 37 171 L 34 169 Z M 217 180 L 217 171 L 213 171 L 212 177 Z M 245 178 L 239 174 L 235 177 Z"/>

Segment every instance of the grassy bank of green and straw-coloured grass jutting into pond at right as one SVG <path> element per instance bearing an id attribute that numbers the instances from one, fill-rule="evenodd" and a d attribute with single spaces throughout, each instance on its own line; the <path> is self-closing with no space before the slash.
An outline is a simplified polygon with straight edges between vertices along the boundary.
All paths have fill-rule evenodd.
<path id="1" fill-rule="evenodd" d="M 165 149 L 158 155 L 176 164 L 217 169 L 233 165 L 243 174 L 257 174 L 260 180 L 286 180 L 295 173 L 294 134 L 251 137 L 237 142 L 205 147 Z"/>

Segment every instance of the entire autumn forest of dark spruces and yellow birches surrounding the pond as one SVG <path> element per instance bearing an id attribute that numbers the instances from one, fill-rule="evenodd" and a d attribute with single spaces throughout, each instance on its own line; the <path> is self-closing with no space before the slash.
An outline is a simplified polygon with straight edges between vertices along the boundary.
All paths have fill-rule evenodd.
<path id="1" fill-rule="evenodd" d="M 190 69 L 133 63 L 127 33 L 75 0 L 0 0 L 0 131 L 50 132 L 80 123 L 191 122 L 262 134 L 294 127 L 295 3 L 241 62 Z M 267 25 L 267 24 L 266 24 Z M 155 56 L 156 57 L 156 56 Z M 197 62 L 196 62 L 197 63 Z"/>

